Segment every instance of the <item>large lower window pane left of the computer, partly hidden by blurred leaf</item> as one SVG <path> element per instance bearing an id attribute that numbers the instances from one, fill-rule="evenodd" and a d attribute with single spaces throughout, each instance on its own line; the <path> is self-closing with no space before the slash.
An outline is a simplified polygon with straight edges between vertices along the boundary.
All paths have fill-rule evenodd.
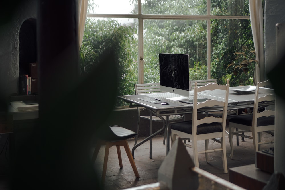
<path id="1" fill-rule="evenodd" d="M 134 83 L 138 80 L 137 19 L 128 25 L 120 24 L 121 18 L 87 18 L 81 53 L 86 56 L 85 72 L 93 69 L 100 56 L 110 47 L 115 49 L 119 64 L 119 87 L 117 95 L 135 94 Z M 83 67 L 82 67 L 83 68 Z M 108 66 L 106 65 L 106 69 Z M 124 105 L 118 100 L 117 106 Z"/>

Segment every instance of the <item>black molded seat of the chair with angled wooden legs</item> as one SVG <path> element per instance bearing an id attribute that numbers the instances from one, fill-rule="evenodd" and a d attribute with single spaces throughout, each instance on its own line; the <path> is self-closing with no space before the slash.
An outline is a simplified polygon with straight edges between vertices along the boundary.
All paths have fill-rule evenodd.
<path id="1" fill-rule="evenodd" d="M 132 138 L 136 136 L 137 133 L 133 132 L 132 130 L 123 128 L 118 125 L 108 126 L 104 134 L 102 134 L 99 138 L 106 141 L 119 141 L 119 140 L 126 140 L 128 138 Z"/>

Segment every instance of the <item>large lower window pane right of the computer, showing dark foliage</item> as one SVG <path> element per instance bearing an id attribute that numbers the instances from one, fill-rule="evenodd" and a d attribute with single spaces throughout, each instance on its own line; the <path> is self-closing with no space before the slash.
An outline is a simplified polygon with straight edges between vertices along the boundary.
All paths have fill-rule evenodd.
<path id="1" fill-rule="evenodd" d="M 230 79 L 230 86 L 253 85 L 254 62 L 248 64 L 248 71 L 239 67 L 239 63 L 248 60 L 249 55 L 255 58 L 249 51 L 253 49 L 250 20 L 211 21 L 211 77 L 216 78 L 218 84 L 225 84 Z M 242 54 L 234 55 L 235 52 L 245 52 L 246 57 Z M 229 66 L 231 63 L 235 64 Z"/>

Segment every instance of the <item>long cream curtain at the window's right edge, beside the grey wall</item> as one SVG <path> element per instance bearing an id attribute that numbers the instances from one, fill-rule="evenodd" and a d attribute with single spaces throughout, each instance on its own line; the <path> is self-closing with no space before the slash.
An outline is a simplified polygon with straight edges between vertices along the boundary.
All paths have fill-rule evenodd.
<path id="1" fill-rule="evenodd" d="M 259 66 L 255 64 L 254 82 L 264 81 L 264 32 L 263 32 L 263 15 L 262 0 L 249 0 L 249 15 L 251 21 L 251 30 L 253 35 L 253 43 L 256 52 L 256 60 Z"/>

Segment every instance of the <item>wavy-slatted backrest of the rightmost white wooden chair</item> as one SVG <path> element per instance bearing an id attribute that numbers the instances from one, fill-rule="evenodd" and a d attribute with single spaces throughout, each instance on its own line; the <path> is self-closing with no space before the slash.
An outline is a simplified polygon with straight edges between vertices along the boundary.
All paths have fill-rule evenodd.
<path id="1" fill-rule="evenodd" d="M 273 111 L 271 109 L 266 109 L 262 112 L 258 112 L 258 103 L 264 102 L 264 101 L 275 101 L 275 95 L 273 95 L 273 94 L 267 94 L 265 96 L 258 97 L 259 88 L 264 87 L 264 86 L 269 86 L 270 84 L 271 83 L 269 80 L 257 83 L 256 90 L 255 90 L 255 99 L 254 99 L 254 104 L 253 104 L 253 121 L 252 121 L 253 123 L 252 123 L 252 126 L 257 125 L 257 118 L 259 118 L 259 117 L 275 116 L 275 111 Z"/>

